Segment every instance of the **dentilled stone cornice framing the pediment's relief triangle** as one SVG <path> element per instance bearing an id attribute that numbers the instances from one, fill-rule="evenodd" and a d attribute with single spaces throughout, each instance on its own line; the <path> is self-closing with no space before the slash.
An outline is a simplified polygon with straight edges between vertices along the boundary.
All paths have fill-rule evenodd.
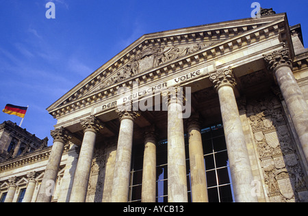
<path id="1" fill-rule="evenodd" d="M 261 42 L 263 40 L 266 40 L 266 38 L 270 36 L 277 36 L 279 32 L 285 31 L 285 14 L 280 14 L 279 16 L 273 15 L 271 17 L 272 20 L 273 17 L 278 19 L 275 19 L 274 21 L 271 20 L 272 21 L 271 23 L 267 23 L 259 27 L 257 23 L 255 25 L 252 25 L 253 23 L 250 23 L 251 29 L 248 29 L 248 26 L 245 27 L 244 23 L 241 27 L 223 28 L 222 26 L 220 26 L 221 29 L 216 29 L 216 30 L 212 29 L 205 30 L 204 27 L 205 26 L 207 27 L 207 25 L 205 26 L 203 25 L 192 28 L 194 29 L 194 33 L 191 32 L 192 29 L 188 28 L 190 30 L 190 33 L 187 33 L 188 29 L 186 29 L 185 34 L 181 34 L 178 36 L 170 36 L 171 33 L 175 33 L 175 31 L 164 31 L 160 33 L 164 37 L 160 38 L 150 39 L 150 36 L 152 37 L 158 36 L 159 33 L 144 35 L 142 36 L 141 39 L 137 40 L 139 45 L 136 44 L 136 42 L 134 42 L 133 44 L 131 44 L 131 46 L 129 46 L 129 47 L 134 47 L 129 53 L 123 55 L 123 57 L 121 58 L 119 57 L 118 61 L 114 62 L 114 64 L 112 65 L 107 63 L 104 66 L 102 66 L 99 70 L 104 70 L 104 71 L 101 72 L 97 77 L 94 77 L 94 74 L 92 74 L 88 77 L 88 79 L 92 79 L 90 82 L 86 83 L 86 81 L 82 81 L 81 83 L 79 83 L 80 86 L 86 83 L 85 85 L 83 85 L 83 87 L 81 87 L 80 90 L 78 90 L 74 94 L 75 98 L 77 97 L 80 98 L 73 99 L 72 95 L 67 96 L 68 101 L 64 102 L 63 105 L 54 108 L 52 108 L 51 106 L 47 108 L 47 110 L 49 111 L 49 113 L 51 113 L 51 115 L 54 118 L 58 118 L 60 116 L 66 115 L 67 113 L 80 109 L 81 107 L 87 107 L 92 103 L 97 103 L 105 98 L 110 98 L 111 96 L 116 94 L 116 91 L 118 90 L 119 87 L 124 87 L 124 86 L 131 87 L 133 81 L 137 81 L 138 83 L 151 81 L 157 77 L 168 75 L 169 72 L 175 72 L 176 70 L 183 70 L 192 65 L 198 64 L 199 62 L 210 62 L 211 60 L 216 59 L 216 57 L 220 57 L 221 55 L 224 55 L 226 53 L 232 53 L 233 51 L 237 51 L 238 49 L 241 49 L 243 46 L 248 46 L 253 43 Z M 260 18 L 260 20 L 262 19 L 264 18 Z M 266 17 L 266 21 L 268 21 L 268 17 Z M 249 22 L 253 21 L 250 20 Z M 203 31 L 200 31 L 202 27 Z M 200 32 L 195 32 L 196 29 L 198 29 Z M 183 29 L 177 30 L 178 33 L 180 31 L 183 32 L 184 30 Z M 189 55 L 185 55 L 184 57 L 174 59 L 173 61 L 168 62 L 166 64 L 162 64 L 155 68 L 151 68 L 150 70 L 141 72 L 138 75 L 125 79 L 124 81 L 120 81 L 113 85 L 103 87 L 103 89 L 99 90 L 99 92 L 93 92 L 92 94 L 82 96 L 84 92 L 86 92 L 86 90 L 89 89 L 91 86 L 97 85 L 96 83 L 101 82 L 103 79 L 108 79 L 108 76 L 111 76 L 112 72 L 116 71 L 118 68 L 120 68 L 120 66 L 123 66 L 123 64 L 125 64 L 125 62 L 128 61 L 130 55 L 133 55 L 133 53 L 136 53 L 139 49 L 142 49 L 142 46 L 149 45 L 149 43 L 166 44 L 168 42 L 175 42 L 175 40 L 183 40 L 183 42 L 188 42 L 190 40 L 197 40 L 197 38 L 203 38 L 203 40 L 211 40 L 211 38 L 215 37 L 215 35 L 216 37 L 218 35 L 230 36 L 231 33 L 233 33 L 233 36 L 231 36 L 231 38 L 225 39 L 211 46 L 207 46 L 204 49 L 201 49 L 195 53 L 191 53 Z M 121 56 L 122 54 L 123 52 L 119 53 L 117 56 Z M 73 90 L 75 90 L 75 88 Z M 72 93 L 73 90 L 68 92 L 68 94 L 66 95 Z M 63 100 L 61 100 L 60 98 L 58 102 L 59 101 Z M 53 106 L 56 105 L 57 103 L 53 104 Z"/>

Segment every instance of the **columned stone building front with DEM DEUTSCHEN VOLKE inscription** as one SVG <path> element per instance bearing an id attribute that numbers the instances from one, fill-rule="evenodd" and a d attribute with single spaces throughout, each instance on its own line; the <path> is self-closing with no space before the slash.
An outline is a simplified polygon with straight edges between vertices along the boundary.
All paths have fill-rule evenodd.
<path id="1" fill-rule="evenodd" d="M 146 34 L 47 108 L 53 147 L 0 163 L 0 198 L 308 202 L 307 59 L 272 9 Z"/>

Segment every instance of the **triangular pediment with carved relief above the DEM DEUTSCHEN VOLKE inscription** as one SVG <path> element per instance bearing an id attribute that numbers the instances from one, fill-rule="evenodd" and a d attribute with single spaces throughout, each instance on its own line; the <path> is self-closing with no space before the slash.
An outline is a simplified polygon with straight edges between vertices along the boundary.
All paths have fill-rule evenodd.
<path id="1" fill-rule="evenodd" d="M 275 14 L 146 34 L 81 81 L 48 107 L 47 111 L 56 118 L 60 113 L 70 111 L 64 108 L 68 105 L 76 107 L 78 104 L 95 100 L 97 96 L 93 94 L 96 92 L 102 92 L 102 96 L 108 87 L 123 83 L 132 77 L 142 77 L 151 70 L 174 66 L 175 61 L 206 49 L 215 55 L 216 46 L 218 50 L 224 51 L 224 46 L 220 45 L 222 42 L 238 38 L 249 31 L 284 18 L 285 14 Z M 251 40 L 250 36 L 246 38 Z M 229 46 L 233 46 L 232 42 Z"/>

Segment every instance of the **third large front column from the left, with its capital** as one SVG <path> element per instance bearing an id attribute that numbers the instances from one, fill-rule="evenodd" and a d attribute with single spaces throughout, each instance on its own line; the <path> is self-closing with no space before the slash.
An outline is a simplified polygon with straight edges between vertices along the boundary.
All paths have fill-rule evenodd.
<path id="1" fill-rule="evenodd" d="M 112 202 L 128 202 L 133 122 L 140 114 L 137 111 L 129 111 L 125 107 L 117 109 L 116 112 L 120 117 L 120 133 L 118 135 L 118 148 L 116 149 Z"/>

